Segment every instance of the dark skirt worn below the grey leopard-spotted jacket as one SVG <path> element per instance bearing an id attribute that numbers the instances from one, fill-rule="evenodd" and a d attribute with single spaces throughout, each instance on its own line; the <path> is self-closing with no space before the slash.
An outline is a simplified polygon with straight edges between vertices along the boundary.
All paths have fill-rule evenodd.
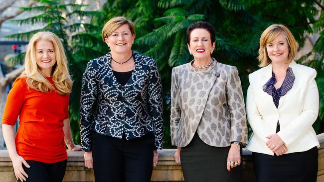
<path id="1" fill-rule="evenodd" d="M 185 182 L 243 182 L 242 162 L 227 171 L 230 147 L 205 144 L 196 133 L 191 142 L 181 149 L 180 160 Z M 241 148 L 242 159 L 242 148 Z"/>

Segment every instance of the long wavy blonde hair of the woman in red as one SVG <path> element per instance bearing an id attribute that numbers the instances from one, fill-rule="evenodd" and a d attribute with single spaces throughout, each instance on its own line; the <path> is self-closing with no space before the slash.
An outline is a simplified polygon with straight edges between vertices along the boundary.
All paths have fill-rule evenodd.
<path id="1" fill-rule="evenodd" d="M 40 40 L 49 41 L 54 47 L 56 63 L 52 67 L 51 76 L 55 87 L 42 75 L 36 63 L 35 44 Z M 25 56 L 25 71 L 22 76 L 26 78 L 28 88 L 36 91 L 56 91 L 60 95 L 71 92 L 72 80 L 67 67 L 67 58 L 57 35 L 52 32 L 37 32 L 31 37 Z"/>

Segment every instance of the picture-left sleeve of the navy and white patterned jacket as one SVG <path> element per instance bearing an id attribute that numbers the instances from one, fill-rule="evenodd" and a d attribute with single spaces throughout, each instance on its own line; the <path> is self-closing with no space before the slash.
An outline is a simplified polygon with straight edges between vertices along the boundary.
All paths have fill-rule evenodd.
<path id="1" fill-rule="evenodd" d="M 90 61 L 82 77 L 81 109 L 80 109 L 80 135 L 83 151 L 91 151 L 91 127 L 94 123 L 94 112 L 97 98 L 97 79 L 93 62 Z"/>

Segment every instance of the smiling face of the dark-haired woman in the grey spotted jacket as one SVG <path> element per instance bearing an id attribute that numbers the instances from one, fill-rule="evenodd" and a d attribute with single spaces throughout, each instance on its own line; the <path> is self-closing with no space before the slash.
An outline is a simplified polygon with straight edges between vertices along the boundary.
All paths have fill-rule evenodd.
<path id="1" fill-rule="evenodd" d="M 210 33 L 203 28 L 193 29 L 190 33 L 189 51 L 195 60 L 210 60 L 210 52 L 215 48 L 215 42 L 211 43 Z"/>

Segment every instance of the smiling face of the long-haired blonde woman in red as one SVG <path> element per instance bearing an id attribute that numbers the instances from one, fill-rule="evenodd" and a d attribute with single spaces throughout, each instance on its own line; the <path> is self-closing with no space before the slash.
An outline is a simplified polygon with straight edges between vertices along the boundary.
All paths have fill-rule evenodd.
<path id="1" fill-rule="evenodd" d="M 47 40 L 39 40 L 35 43 L 36 63 L 45 77 L 50 77 L 52 67 L 56 63 L 54 46 Z"/>

